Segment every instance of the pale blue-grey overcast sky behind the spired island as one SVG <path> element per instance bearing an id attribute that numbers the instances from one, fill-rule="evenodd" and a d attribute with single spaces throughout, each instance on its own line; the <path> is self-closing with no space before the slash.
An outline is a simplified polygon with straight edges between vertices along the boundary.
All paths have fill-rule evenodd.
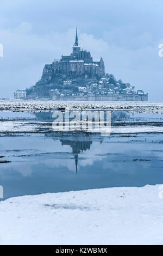
<path id="1" fill-rule="evenodd" d="M 45 64 L 79 44 L 105 71 L 162 101 L 162 0 L 0 0 L 2 96 L 34 85 Z"/>

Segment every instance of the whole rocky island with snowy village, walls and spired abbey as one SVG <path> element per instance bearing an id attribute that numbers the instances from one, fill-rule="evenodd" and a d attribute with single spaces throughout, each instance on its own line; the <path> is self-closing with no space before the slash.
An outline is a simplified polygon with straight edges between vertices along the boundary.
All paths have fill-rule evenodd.
<path id="1" fill-rule="evenodd" d="M 43 68 L 41 79 L 25 91 L 17 90 L 15 99 L 68 101 L 147 101 L 148 94 L 135 92 L 130 83 L 105 74 L 103 58 L 93 59 L 78 43 L 78 31 L 70 55 L 62 54 Z"/>

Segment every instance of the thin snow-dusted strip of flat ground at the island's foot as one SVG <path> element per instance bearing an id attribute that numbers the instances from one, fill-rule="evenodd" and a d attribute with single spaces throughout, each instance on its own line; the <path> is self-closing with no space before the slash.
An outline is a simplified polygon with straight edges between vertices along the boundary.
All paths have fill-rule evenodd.
<path id="1" fill-rule="evenodd" d="M 163 102 L 148 101 L 0 101 L 0 110 L 53 111 L 53 109 L 109 109 L 163 111 Z"/>

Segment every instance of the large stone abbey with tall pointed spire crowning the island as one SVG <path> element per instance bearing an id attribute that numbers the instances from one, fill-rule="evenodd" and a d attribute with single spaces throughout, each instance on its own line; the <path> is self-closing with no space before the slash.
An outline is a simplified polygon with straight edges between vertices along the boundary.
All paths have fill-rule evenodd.
<path id="1" fill-rule="evenodd" d="M 50 65 L 45 65 L 43 76 L 62 74 L 71 76 L 93 77 L 104 76 L 105 66 L 103 59 L 93 61 L 91 53 L 80 48 L 78 44 L 78 32 L 76 29 L 76 40 L 70 55 L 62 55 L 60 60 L 54 60 Z"/>

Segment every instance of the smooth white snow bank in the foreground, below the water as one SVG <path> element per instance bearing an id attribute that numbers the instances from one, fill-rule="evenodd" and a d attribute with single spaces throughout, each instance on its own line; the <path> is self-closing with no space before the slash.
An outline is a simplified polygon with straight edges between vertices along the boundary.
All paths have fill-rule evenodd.
<path id="1" fill-rule="evenodd" d="M 162 244 L 159 192 L 155 185 L 10 198 L 0 203 L 0 244 Z"/>

